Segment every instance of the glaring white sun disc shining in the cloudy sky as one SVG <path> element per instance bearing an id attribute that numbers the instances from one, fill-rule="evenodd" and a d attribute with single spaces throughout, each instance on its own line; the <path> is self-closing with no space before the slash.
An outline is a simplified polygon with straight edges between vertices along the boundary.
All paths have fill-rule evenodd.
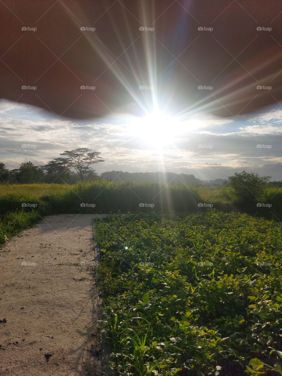
<path id="1" fill-rule="evenodd" d="M 177 117 L 163 112 L 153 112 L 133 121 L 129 132 L 153 149 L 164 149 L 171 145 L 181 128 Z"/>

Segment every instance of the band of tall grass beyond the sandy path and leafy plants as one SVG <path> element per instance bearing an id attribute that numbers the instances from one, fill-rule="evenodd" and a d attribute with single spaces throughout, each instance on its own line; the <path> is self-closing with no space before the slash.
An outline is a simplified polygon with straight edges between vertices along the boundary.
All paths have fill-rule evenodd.
<path id="1" fill-rule="evenodd" d="M 0 184 L 0 244 L 46 214 L 204 212 L 213 207 L 282 220 L 281 189 L 267 188 L 259 199 L 270 203 L 271 208 L 257 208 L 256 203 L 238 205 L 230 188 L 112 183 L 102 179 L 75 185 L 3 183 Z"/>

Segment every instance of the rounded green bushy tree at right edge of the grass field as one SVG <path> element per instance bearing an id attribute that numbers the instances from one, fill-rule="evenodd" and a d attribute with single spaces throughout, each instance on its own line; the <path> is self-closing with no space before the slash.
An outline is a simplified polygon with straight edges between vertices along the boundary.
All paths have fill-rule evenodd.
<path id="1" fill-rule="evenodd" d="M 242 171 L 229 176 L 228 181 L 235 191 L 237 200 L 242 203 L 249 203 L 259 200 L 259 196 L 263 193 L 270 178 L 271 176 L 260 177 L 259 174 Z"/>

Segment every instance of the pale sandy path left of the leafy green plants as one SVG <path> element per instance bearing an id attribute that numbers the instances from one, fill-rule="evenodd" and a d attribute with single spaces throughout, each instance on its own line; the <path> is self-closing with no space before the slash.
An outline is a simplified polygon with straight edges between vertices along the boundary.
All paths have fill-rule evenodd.
<path id="1" fill-rule="evenodd" d="M 87 374 L 83 359 L 99 368 L 96 283 L 80 265 L 95 258 L 94 217 L 45 217 L 0 249 L 0 375 Z"/>

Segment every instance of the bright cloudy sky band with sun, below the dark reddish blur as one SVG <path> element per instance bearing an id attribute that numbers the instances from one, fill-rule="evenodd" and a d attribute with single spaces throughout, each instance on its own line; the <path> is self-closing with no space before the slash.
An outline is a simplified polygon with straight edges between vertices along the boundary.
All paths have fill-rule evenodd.
<path id="1" fill-rule="evenodd" d="M 237 118 L 123 115 L 77 121 L 2 101 L 0 160 L 9 169 L 26 161 L 43 165 L 64 150 L 88 147 L 105 159 L 98 173 L 171 171 L 215 179 L 246 170 L 281 180 L 281 107 Z"/>

